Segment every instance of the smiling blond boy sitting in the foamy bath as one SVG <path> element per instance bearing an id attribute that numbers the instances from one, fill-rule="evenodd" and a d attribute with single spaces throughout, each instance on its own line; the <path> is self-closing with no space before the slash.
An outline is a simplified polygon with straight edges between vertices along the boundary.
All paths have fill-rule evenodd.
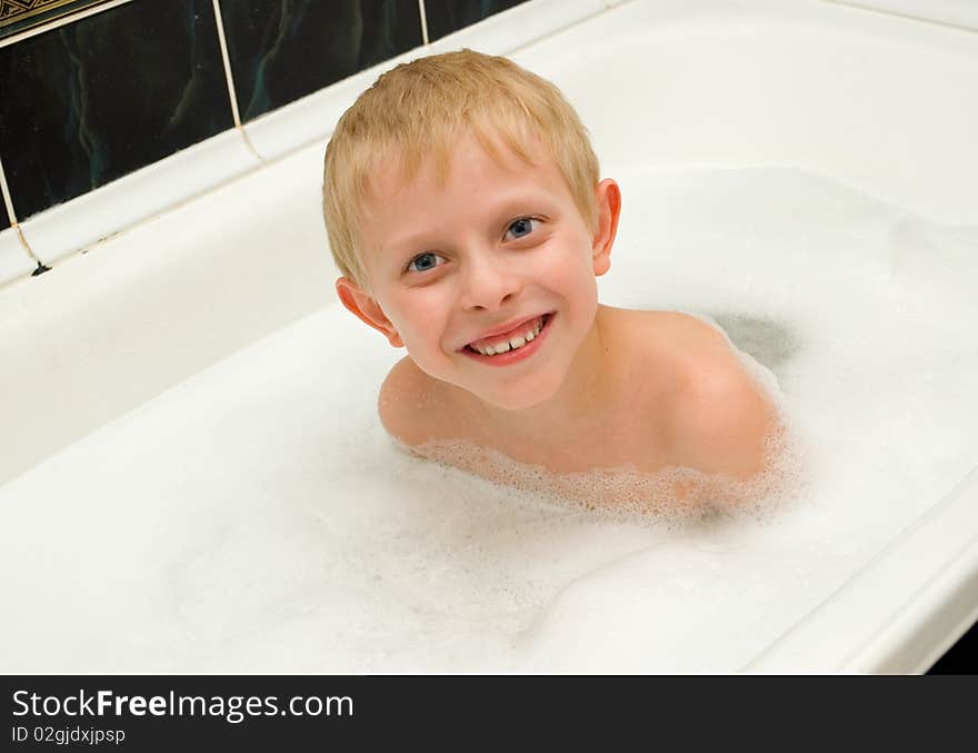
<path id="1" fill-rule="evenodd" d="M 555 479 L 692 469 L 686 502 L 765 470 L 777 410 L 723 334 L 598 304 L 620 209 L 570 105 L 505 58 L 422 58 L 365 91 L 323 211 L 340 300 L 408 351 L 380 389 L 388 433 L 503 483 L 491 450 Z"/>

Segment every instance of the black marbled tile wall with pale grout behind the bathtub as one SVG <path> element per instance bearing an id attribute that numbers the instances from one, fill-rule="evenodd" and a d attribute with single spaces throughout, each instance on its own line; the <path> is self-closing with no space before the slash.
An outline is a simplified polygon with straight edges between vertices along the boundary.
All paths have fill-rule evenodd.
<path id="1" fill-rule="evenodd" d="M 426 0 L 429 41 L 520 1 Z M 421 46 L 420 7 L 220 0 L 241 122 Z M 0 160 L 21 221 L 234 125 L 212 0 L 130 0 L 0 47 Z M 0 202 L 0 230 L 10 220 Z"/>

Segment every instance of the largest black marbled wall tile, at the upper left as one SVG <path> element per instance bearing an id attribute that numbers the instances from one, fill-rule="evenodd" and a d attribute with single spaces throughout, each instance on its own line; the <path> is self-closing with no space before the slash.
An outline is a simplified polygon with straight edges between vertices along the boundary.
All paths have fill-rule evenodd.
<path id="1" fill-rule="evenodd" d="M 0 48 L 19 219 L 233 127 L 210 0 L 133 0 Z"/>

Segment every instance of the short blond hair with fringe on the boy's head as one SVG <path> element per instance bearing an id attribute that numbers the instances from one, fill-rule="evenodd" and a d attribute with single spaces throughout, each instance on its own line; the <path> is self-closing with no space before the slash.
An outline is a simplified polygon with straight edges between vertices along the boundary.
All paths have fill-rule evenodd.
<path id="1" fill-rule="evenodd" d="M 493 158 L 497 143 L 533 164 L 539 139 L 589 228 L 597 226 L 598 158 L 560 90 L 511 60 L 472 50 L 420 58 L 383 73 L 337 123 L 326 148 L 322 211 L 340 271 L 369 289 L 358 250 L 360 206 L 373 170 L 399 159 L 410 176 L 426 158 L 445 179 L 452 143 L 471 132 Z"/>

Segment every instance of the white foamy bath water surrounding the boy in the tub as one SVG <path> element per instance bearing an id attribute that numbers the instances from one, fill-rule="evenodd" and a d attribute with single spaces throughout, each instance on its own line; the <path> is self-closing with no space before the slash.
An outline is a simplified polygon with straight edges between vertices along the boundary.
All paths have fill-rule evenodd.
<path id="1" fill-rule="evenodd" d="M 608 172 L 601 300 L 756 364 L 804 448 L 782 504 L 622 516 L 411 457 L 376 413 L 402 351 L 330 306 L 0 488 L 0 666 L 736 671 L 978 464 L 978 228 L 797 170 Z"/>

